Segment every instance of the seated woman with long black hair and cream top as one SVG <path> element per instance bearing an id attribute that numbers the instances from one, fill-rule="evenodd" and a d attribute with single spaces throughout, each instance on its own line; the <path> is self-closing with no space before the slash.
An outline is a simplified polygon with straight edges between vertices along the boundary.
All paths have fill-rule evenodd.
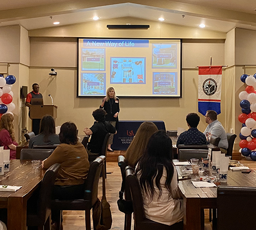
<path id="1" fill-rule="evenodd" d="M 172 140 L 165 131 L 154 133 L 136 167 L 146 218 L 183 229 L 183 200 L 172 159 Z"/>

